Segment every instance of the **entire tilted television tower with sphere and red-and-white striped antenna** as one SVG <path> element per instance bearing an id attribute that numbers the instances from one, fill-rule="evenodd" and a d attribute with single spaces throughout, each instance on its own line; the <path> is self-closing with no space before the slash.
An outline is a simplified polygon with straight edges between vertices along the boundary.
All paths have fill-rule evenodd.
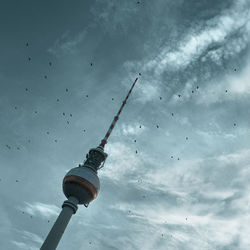
<path id="1" fill-rule="evenodd" d="M 104 166 L 105 160 L 108 156 L 108 154 L 104 152 L 105 144 L 107 143 L 107 140 L 116 122 L 118 121 L 119 115 L 122 112 L 122 109 L 125 106 L 137 80 L 138 78 L 135 79 L 100 145 L 89 150 L 83 165 L 79 164 L 78 167 L 72 168 L 65 175 L 62 187 L 68 200 L 64 201 L 62 204 L 62 211 L 51 228 L 40 250 L 56 249 L 71 216 L 77 211 L 77 205 L 83 204 L 85 207 L 88 207 L 89 203 L 97 197 L 100 190 L 100 181 L 97 176 L 97 170 Z"/>

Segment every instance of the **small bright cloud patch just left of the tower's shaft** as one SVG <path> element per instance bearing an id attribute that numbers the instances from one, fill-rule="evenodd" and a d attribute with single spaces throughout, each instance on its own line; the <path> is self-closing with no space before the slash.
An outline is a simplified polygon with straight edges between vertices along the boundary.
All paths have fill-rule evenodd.
<path id="1" fill-rule="evenodd" d="M 55 205 L 49 205 L 40 202 L 34 202 L 33 204 L 25 202 L 25 207 L 20 208 L 20 210 L 25 211 L 30 215 L 39 215 L 45 218 L 57 216 L 61 211 L 61 209 Z"/>

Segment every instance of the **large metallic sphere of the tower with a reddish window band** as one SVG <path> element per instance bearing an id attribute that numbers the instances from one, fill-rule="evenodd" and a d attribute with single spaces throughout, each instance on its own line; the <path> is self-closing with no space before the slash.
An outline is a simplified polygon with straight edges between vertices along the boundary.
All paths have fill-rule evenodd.
<path id="1" fill-rule="evenodd" d="M 97 173 L 88 167 L 72 168 L 63 179 L 63 192 L 67 198 L 74 196 L 79 204 L 88 205 L 97 197 L 100 181 Z"/>

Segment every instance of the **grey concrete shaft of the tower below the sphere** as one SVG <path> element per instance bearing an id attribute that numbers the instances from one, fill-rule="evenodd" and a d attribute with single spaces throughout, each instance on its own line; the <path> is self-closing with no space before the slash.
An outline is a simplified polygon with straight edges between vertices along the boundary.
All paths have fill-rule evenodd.
<path id="1" fill-rule="evenodd" d="M 59 214 L 55 224 L 51 228 L 40 250 L 55 250 L 69 223 L 72 214 L 76 213 L 78 200 L 70 196 L 62 205 L 62 211 Z"/>

